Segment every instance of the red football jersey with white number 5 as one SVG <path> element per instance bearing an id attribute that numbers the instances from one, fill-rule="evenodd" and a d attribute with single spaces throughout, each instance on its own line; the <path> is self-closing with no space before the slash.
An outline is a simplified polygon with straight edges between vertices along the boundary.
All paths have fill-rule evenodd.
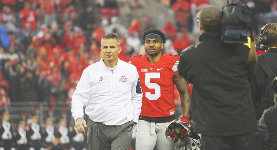
<path id="1" fill-rule="evenodd" d="M 136 66 L 142 87 L 141 116 L 168 117 L 175 113 L 173 76 L 178 73 L 179 56 L 163 54 L 154 65 L 147 55 L 134 56 L 129 63 Z"/>

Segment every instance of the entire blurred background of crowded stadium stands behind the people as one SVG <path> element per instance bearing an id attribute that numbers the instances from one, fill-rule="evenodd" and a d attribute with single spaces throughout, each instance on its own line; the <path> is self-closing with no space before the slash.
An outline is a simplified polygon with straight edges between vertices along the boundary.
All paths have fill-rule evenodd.
<path id="1" fill-rule="evenodd" d="M 256 39 L 260 27 L 277 21 L 276 0 L 240 0 L 252 11 Z M 230 0 L 232 2 L 232 0 Z M 142 31 L 165 32 L 163 52 L 197 42 L 196 13 L 226 0 L 0 0 L 0 109 L 16 121 L 40 107 L 68 111 L 83 69 L 101 58 L 101 37 L 120 36 L 119 58 L 144 54 Z M 176 105 L 180 98 L 176 92 Z M 59 107 L 61 106 L 61 107 Z M 176 113 L 177 115 L 179 114 Z M 71 120 L 70 120 L 71 119 Z M 69 123 L 74 124 L 72 117 Z M 43 124 L 43 119 L 40 120 Z"/>

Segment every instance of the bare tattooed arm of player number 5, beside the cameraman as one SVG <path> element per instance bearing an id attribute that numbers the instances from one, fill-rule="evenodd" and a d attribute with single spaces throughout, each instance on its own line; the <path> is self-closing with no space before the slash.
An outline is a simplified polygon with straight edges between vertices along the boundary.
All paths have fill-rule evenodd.
<path id="1" fill-rule="evenodd" d="M 182 111 L 184 116 L 189 115 L 190 96 L 188 95 L 188 82 L 179 75 L 179 73 L 173 76 L 173 82 L 180 93 Z"/>

